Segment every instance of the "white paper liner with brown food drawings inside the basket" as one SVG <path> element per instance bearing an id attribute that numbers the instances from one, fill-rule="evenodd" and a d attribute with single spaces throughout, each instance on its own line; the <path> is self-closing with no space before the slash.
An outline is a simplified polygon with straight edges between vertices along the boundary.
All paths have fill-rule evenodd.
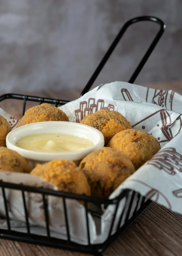
<path id="1" fill-rule="evenodd" d="M 61 106 L 72 122 L 80 122 L 87 114 L 100 109 L 115 110 L 130 121 L 132 128 L 146 131 L 158 139 L 161 150 L 140 169 L 125 180 L 110 196 L 114 198 L 124 188 L 130 188 L 140 195 L 164 205 L 172 211 L 182 214 L 182 96 L 174 91 L 155 90 L 125 82 L 113 82 L 100 85 L 78 100 Z M 14 128 L 18 120 L 0 109 Z M 57 189 L 50 183 L 28 174 L 0 172 L 0 179 L 12 183 L 43 186 Z M 25 214 L 21 192 L 6 191 L 9 215 L 14 230 L 26 232 Z M 46 235 L 43 201 L 41 195 L 26 193 L 31 232 Z M 131 193 L 129 195 L 129 200 Z M 67 239 L 64 221 L 62 199 L 48 197 L 51 236 Z M 128 200 L 128 205 L 129 205 Z M 141 200 L 138 208 L 140 207 Z M 113 231 L 116 231 L 120 214 L 125 205 L 123 199 L 118 208 L 118 214 Z M 130 215 L 136 206 L 133 202 Z M 75 200 L 67 199 L 68 218 L 71 240 L 87 244 L 85 209 Z M 91 206 L 88 216 L 90 240 L 92 244 L 103 242 L 109 232 L 115 206 L 110 205 L 104 212 Z M 123 220 L 125 213 L 123 215 Z M 2 192 L 0 191 L 0 214 L 5 216 Z M 124 224 L 122 220 L 121 226 Z M 41 226 L 41 227 L 40 227 Z M 1 219 L 0 228 L 7 228 L 6 221 Z"/>

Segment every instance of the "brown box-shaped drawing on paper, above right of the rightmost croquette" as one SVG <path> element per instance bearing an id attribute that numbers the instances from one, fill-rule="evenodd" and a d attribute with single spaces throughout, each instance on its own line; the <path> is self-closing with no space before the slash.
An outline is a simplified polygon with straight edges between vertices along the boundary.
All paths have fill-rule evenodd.
<path id="1" fill-rule="evenodd" d="M 154 112 L 153 114 L 151 114 L 150 116 L 142 119 L 141 121 L 139 121 L 138 123 L 132 125 L 132 128 L 134 128 L 135 126 L 139 125 L 142 123 L 142 129 L 146 128 L 145 122 L 144 121 L 148 121 L 149 123 L 149 119 L 151 119 L 151 122 L 153 124 L 153 121 L 155 121 L 156 117 L 158 116 L 158 119 L 160 119 L 161 121 L 158 122 L 157 126 L 160 127 L 160 130 L 162 131 L 162 134 L 164 136 L 164 139 L 161 139 L 160 137 L 158 137 L 157 139 L 159 140 L 159 143 L 162 142 L 169 142 L 172 138 L 174 138 L 180 131 L 182 128 L 182 120 L 181 120 L 181 116 L 179 116 L 176 121 L 179 121 L 179 129 L 178 132 L 176 134 L 173 134 L 172 129 L 170 128 L 173 123 L 171 121 L 171 116 L 169 114 L 169 112 L 166 109 L 160 109 L 156 112 Z M 153 120 L 152 120 L 153 118 Z"/>

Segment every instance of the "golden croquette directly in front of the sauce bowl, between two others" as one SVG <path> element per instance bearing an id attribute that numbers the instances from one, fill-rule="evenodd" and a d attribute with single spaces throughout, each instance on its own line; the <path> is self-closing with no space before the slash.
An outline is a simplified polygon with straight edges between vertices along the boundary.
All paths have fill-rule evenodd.
<path id="1" fill-rule="evenodd" d="M 58 190 L 90 196 L 87 179 L 73 161 L 58 159 L 37 164 L 30 174 L 53 183 Z"/>

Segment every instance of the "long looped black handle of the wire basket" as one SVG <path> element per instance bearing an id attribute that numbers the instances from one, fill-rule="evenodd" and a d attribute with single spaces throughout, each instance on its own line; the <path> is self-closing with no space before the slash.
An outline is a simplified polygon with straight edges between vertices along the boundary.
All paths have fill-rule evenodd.
<path id="1" fill-rule="evenodd" d="M 100 72 L 103 69 L 105 63 L 107 62 L 108 58 L 112 54 L 113 50 L 115 49 L 116 45 L 121 40 L 123 34 L 128 29 L 128 27 L 131 26 L 132 24 L 140 22 L 140 21 L 152 21 L 152 22 L 158 23 L 159 26 L 160 26 L 160 29 L 159 29 L 157 35 L 155 36 L 153 42 L 151 43 L 150 47 L 146 51 L 144 57 L 141 59 L 141 61 L 139 62 L 137 68 L 135 69 L 135 71 L 133 72 L 132 76 L 130 77 L 130 79 L 128 81 L 129 83 L 134 83 L 135 79 L 137 78 L 138 74 L 140 73 L 140 71 L 144 67 L 146 61 L 148 60 L 149 56 L 151 55 L 152 51 L 154 50 L 155 46 L 157 45 L 160 37 L 162 36 L 162 34 L 163 34 L 164 30 L 165 30 L 165 24 L 163 23 L 163 21 L 161 21 L 158 18 L 151 17 L 151 16 L 141 16 L 141 17 L 133 18 L 133 19 L 127 21 L 123 25 L 123 27 L 121 28 L 119 34 L 116 36 L 116 38 L 114 39 L 113 43 L 109 47 L 108 51 L 106 52 L 106 54 L 102 58 L 101 62 L 99 63 L 97 69 L 95 70 L 95 72 L 93 73 L 93 75 L 90 77 L 89 81 L 87 82 L 87 84 L 83 88 L 80 97 L 83 96 L 85 93 L 87 93 L 89 91 L 89 89 L 92 87 L 93 83 L 95 82 L 96 78 L 100 74 Z"/>

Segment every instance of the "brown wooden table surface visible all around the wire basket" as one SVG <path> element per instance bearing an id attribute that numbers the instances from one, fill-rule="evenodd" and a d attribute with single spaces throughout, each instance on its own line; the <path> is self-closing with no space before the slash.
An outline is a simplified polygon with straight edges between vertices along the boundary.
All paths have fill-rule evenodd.
<path id="1" fill-rule="evenodd" d="M 151 87 L 173 88 L 182 94 L 182 82 L 153 84 Z M 74 100 L 80 90 L 72 92 L 41 92 L 30 95 Z M 8 101 L 9 102 L 9 101 Z M 21 117 L 22 103 L 6 101 L 0 106 L 6 111 Z M 31 105 L 28 104 L 27 107 Z M 25 244 L 0 239 L 0 256 L 84 256 L 86 254 L 66 250 Z M 179 256 L 182 255 L 182 215 L 152 203 L 116 241 L 103 253 L 104 256 Z"/>

